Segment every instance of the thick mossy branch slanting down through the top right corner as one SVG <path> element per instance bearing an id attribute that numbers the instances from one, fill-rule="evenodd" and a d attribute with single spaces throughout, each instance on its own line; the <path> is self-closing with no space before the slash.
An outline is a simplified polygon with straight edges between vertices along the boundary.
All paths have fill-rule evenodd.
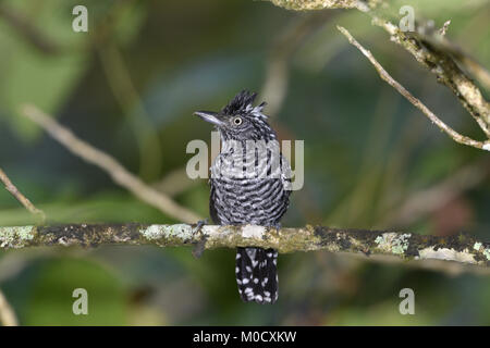
<path id="1" fill-rule="evenodd" d="M 485 99 L 481 90 L 469 78 L 460 65 L 467 71 L 477 72 L 475 77 L 481 78 L 485 69 L 470 60 L 464 52 L 454 53 L 455 45 L 445 37 L 450 22 L 442 30 L 431 29 L 427 23 L 415 22 L 414 32 L 404 32 L 399 28 L 396 16 L 399 9 L 393 9 L 389 0 L 269 0 L 273 4 L 296 11 L 324 10 L 324 9 L 356 9 L 371 17 L 372 24 L 384 29 L 390 39 L 408 53 L 418 63 L 428 69 L 439 83 L 445 85 L 456 96 L 461 104 L 471 115 L 490 139 L 490 103 Z M 468 66 L 470 62 L 471 66 Z M 477 66 L 474 66 L 477 65 Z M 487 73 L 483 74 L 486 80 Z M 486 142 L 487 144 L 487 142 Z M 487 145 L 485 150 L 490 150 Z"/>

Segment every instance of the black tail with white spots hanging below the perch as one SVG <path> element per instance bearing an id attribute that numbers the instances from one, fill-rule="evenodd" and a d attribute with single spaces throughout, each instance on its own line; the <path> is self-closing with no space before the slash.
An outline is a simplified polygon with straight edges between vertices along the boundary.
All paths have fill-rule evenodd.
<path id="1" fill-rule="evenodd" d="M 245 302 L 273 303 L 278 299 L 278 251 L 237 248 L 236 284 Z"/>

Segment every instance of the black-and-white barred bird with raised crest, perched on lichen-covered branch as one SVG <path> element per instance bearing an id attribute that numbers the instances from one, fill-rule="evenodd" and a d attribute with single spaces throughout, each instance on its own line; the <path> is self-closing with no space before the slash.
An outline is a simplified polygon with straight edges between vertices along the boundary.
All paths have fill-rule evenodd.
<path id="1" fill-rule="evenodd" d="M 290 204 L 291 166 L 262 112 L 267 103 L 254 105 L 256 97 L 256 92 L 242 90 L 219 112 L 194 113 L 220 133 L 221 150 L 209 179 L 209 212 L 218 225 L 280 228 Z M 237 248 L 235 277 L 243 301 L 277 301 L 277 265 L 275 249 Z"/>

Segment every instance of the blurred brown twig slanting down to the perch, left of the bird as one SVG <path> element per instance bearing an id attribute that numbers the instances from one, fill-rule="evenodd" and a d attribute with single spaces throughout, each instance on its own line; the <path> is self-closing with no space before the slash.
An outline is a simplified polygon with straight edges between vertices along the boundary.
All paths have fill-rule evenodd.
<path id="1" fill-rule="evenodd" d="M 47 115 L 36 107 L 29 104 L 24 105 L 21 110 L 21 114 L 42 127 L 51 137 L 66 147 L 72 153 L 106 171 L 112 177 L 114 183 L 126 188 L 140 200 L 180 221 L 194 223 L 201 220 L 201 217 L 193 211 L 177 204 L 167 195 L 159 192 L 145 184 L 137 176 L 126 171 L 126 169 L 124 169 L 124 166 L 122 166 L 113 157 L 77 138 L 71 130 L 60 125 L 53 117 Z"/>

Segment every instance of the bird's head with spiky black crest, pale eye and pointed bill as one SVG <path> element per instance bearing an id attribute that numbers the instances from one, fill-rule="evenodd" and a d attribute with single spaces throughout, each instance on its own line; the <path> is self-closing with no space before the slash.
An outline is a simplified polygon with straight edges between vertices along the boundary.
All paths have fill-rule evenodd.
<path id="1" fill-rule="evenodd" d="M 254 107 L 257 94 L 243 90 L 221 111 L 196 111 L 194 114 L 212 123 L 224 140 L 272 140 L 275 134 L 262 113 L 266 102 Z"/>

